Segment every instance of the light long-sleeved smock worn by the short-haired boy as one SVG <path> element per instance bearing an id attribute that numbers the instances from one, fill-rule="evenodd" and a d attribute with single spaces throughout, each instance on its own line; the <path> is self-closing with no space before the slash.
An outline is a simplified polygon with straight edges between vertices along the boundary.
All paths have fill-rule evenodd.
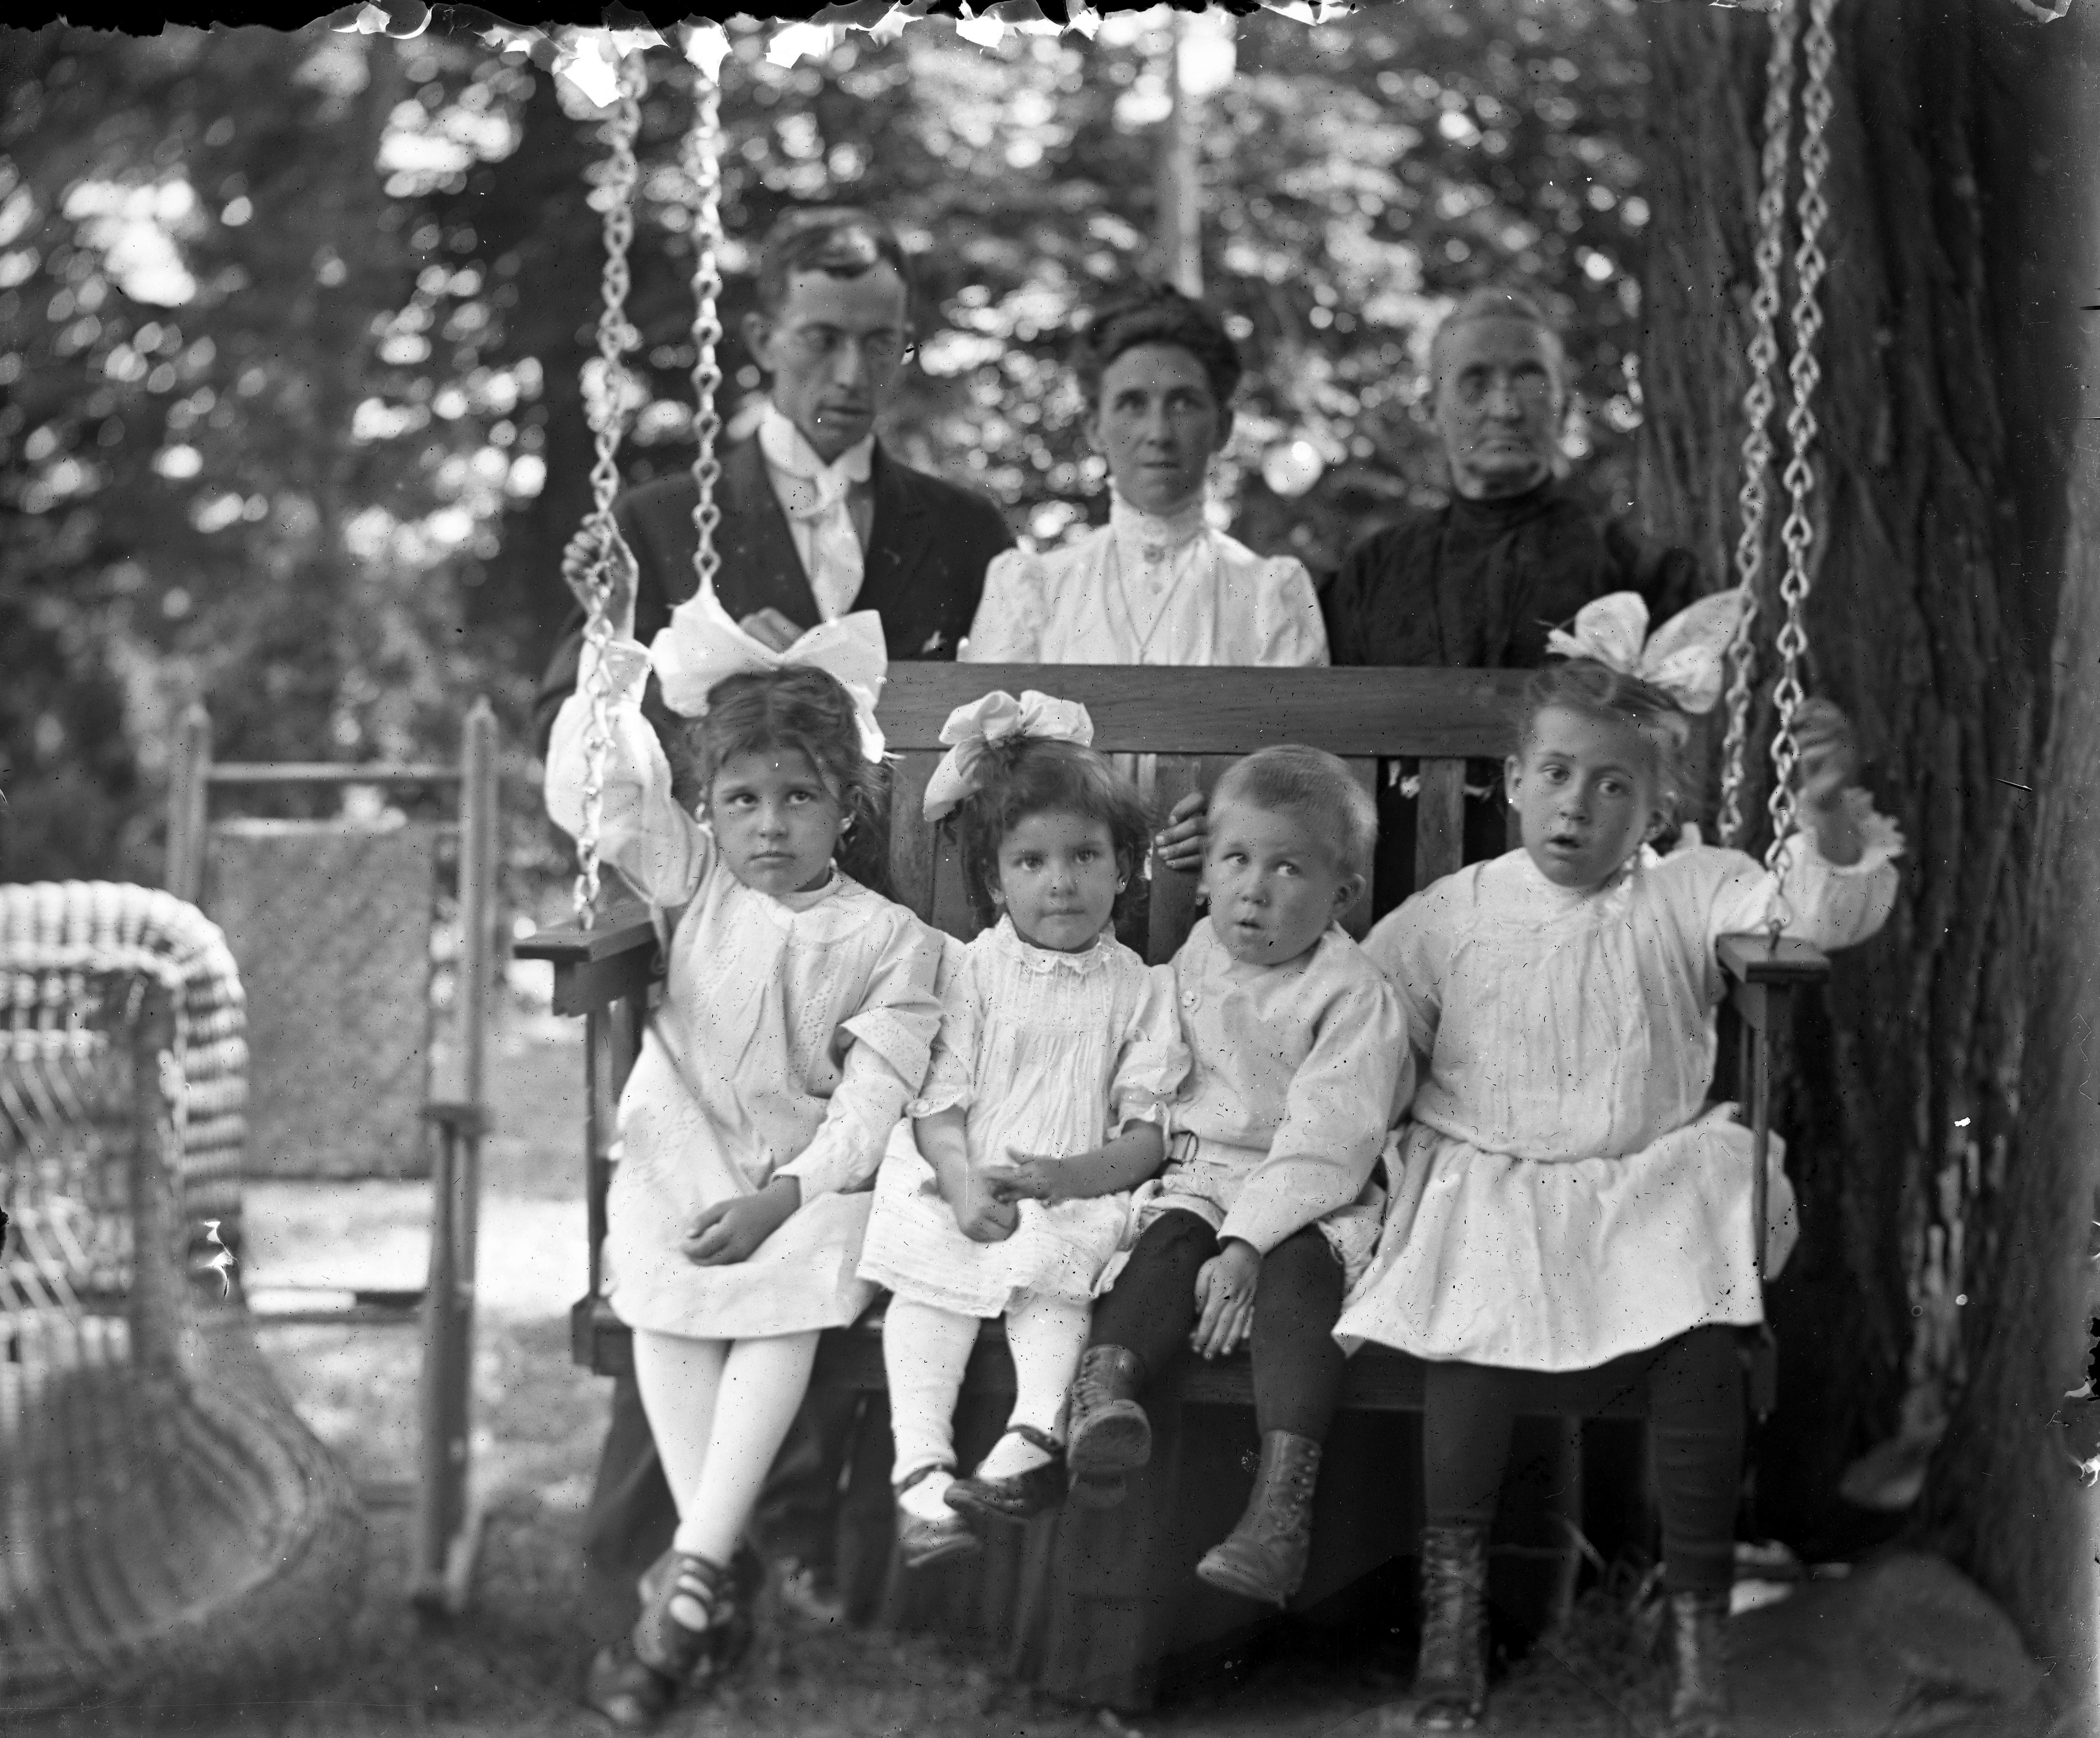
<path id="1" fill-rule="evenodd" d="M 1205 919 L 1174 955 L 1174 993 L 1189 1083 L 1134 1230 L 1178 1207 L 1266 1255 L 1317 1222 L 1354 1278 L 1378 1241 L 1378 1159 L 1413 1087 L 1392 987 L 1340 928 L 1283 966 L 1250 966 Z"/>

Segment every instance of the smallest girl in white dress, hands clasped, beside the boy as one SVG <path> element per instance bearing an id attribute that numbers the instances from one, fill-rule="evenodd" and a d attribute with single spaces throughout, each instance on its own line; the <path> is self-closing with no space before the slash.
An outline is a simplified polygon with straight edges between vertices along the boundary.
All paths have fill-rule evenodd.
<path id="1" fill-rule="evenodd" d="M 993 693 L 941 733 L 926 814 L 956 810 L 979 915 L 951 945 L 941 1037 L 876 1180 L 861 1278 L 882 1327 L 899 1549 L 911 1568 L 979 1547 L 972 1522 L 1027 1520 L 1065 1492 L 1060 1406 L 1128 1190 L 1159 1169 L 1163 1102 L 1189 1066 L 1172 984 L 1111 928 L 1147 819 L 1094 754 L 1086 707 Z M 1040 1180 L 1040 1199 L 995 1184 Z M 976 1327 L 1006 1318 L 1014 1408 L 956 1478 L 953 1413 Z"/>

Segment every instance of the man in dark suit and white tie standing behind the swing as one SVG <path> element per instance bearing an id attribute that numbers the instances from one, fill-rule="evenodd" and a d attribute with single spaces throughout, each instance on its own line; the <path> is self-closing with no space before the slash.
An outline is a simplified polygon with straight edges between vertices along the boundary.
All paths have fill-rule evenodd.
<path id="1" fill-rule="evenodd" d="M 756 437 L 722 453 L 714 537 L 722 560 L 714 588 L 724 609 L 775 649 L 819 621 L 872 609 L 882 617 L 890 659 L 951 659 L 976 613 L 985 565 L 1012 546 L 991 502 L 911 470 L 874 437 L 876 414 L 909 348 L 909 315 L 905 254 L 880 218 L 848 208 L 798 210 L 766 237 L 758 309 L 743 334 L 771 376 L 771 403 Z M 643 644 L 697 590 L 695 504 L 691 474 L 678 474 L 613 506 L 634 552 L 634 636 Z M 590 556 L 592 537 L 582 531 L 563 567 L 573 573 Z M 578 609 L 540 684 L 542 747 L 575 688 L 582 634 Z M 668 722 L 653 680 L 645 712 L 659 730 Z M 853 1396 L 813 1396 L 775 1465 L 754 1532 L 783 1570 L 783 1591 L 804 1610 L 836 1610 L 844 1463 L 857 1432 L 880 1427 L 882 1419 L 855 1406 Z M 886 1465 L 886 1457 L 876 1459 Z M 886 1490 L 882 1499 L 886 1520 Z M 676 1507 L 640 1392 L 630 1375 L 620 1377 L 584 1522 L 584 1562 L 620 1629 L 632 1616 L 634 1581 L 670 1545 L 674 1528 Z M 840 1564 L 836 1578 L 855 1583 L 842 1589 L 859 1593 L 853 1604 L 867 1604 L 878 1572 L 874 1564 Z M 592 1698 L 617 1702 L 620 1673 L 607 1677 L 607 1667 L 601 1656 Z"/>

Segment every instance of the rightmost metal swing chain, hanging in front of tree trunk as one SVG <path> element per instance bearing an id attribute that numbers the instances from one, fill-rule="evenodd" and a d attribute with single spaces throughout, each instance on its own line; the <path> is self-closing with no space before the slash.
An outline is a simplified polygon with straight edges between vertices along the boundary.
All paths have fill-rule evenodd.
<path id="1" fill-rule="evenodd" d="M 1779 596 L 1785 602 L 1785 619 L 1779 628 L 1779 680 L 1772 684 L 1772 705 L 1779 724 L 1772 733 L 1772 796 L 1766 808 L 1772 817 L 1772 842 L 1766 846 L 1764 863 L 1779 867 L 1779 852 L 1793 831 L 1793 768 L 1800 762 L 1800 745 L 1793 739 L 1793 716 L 1800 712 L 1806 691 L 1802 688 L 1802 663 L 1808 655 L 1806 605 L 1812 575 L 1808 552 L 1814 546 L 1814 523 L 1808 516 L 1808 500 L 1814 491 L 1816 474 L 1810 453 L 1816 443 L 1814 393 L 1823 378 L 1816 361 L 1816 338 L 1823 332 L 1823 306 L 1816 300 L 1823 288 L 1827 260 L 1823 256 L 1823 220 L 1829 204 L 1823 197 L 1823 176 L 1829 170 L 1829 147 L 1825 128 L 1831 118 L 1829 71 L 1838 44 L 1831 38 L 1831 10 L 1835 0 L 1810 0 L 1808 34 L 1804 38 L 1808 82 L 1802 88 L 1802 239 L 1793 252 L 1793 359 L 1789 378 L 1793 405 L 1787 409 L 1787 458 L 1785 485 L 1791 495 L 1787 523 L 1779 539 L 1787 550 L 1787 567 L 1779 579 Z M 1772 930 L 1785 926 L 1789 913 L 1785 896 L 1772 911 Z"/>

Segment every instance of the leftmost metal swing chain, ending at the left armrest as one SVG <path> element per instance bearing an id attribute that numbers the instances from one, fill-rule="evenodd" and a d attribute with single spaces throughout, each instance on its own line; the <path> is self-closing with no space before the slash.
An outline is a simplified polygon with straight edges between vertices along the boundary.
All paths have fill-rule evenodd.
<path id="1" fill-rule="evenodd" d="M 626 422 L 628 367 L 626 353 L 636 344 L 628 325 L 628 248 L 634 243 L 634 141 L 640 134 L 645 88 L 643 57 L 628 55 L 620 63 L 620 97 L 605 118 L 601 134 L 607 155 L 598 176 L 605 193 L 605 273 L 598 306 L 598 386 L 588 390 L 586 411 L 596 441 L 596 462 L 590 466 L 590 514 L 586 529 L 596 533 L 596 552 L 586 573 L 590 602 L 584 615 L 584 647 L 592 653 L 584 678 L 588 705 L 584 724 L 584 821 L 575 835 L 575 921 L 590 928 L 598 900 L 598 831 L 605 825 L 605 762 L 613 745 L 611 676 L 605 653 L 613 640 L 611 594 L 615 563 L 632 581 L 634 552 L 620 535 L 613 518 L 613 497 L 620 493 L 620 434 Z"/>

